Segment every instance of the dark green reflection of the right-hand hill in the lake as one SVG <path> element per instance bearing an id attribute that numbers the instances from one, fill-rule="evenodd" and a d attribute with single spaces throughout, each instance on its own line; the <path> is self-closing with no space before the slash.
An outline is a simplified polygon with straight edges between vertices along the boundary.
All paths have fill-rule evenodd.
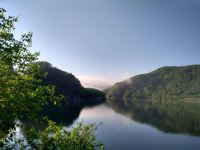
<path id="1" fill-rule="evenodd" d="M 116 112 L 164 132 L 200 136 L 200 103 L 120 100 L 107 103 Z"/>

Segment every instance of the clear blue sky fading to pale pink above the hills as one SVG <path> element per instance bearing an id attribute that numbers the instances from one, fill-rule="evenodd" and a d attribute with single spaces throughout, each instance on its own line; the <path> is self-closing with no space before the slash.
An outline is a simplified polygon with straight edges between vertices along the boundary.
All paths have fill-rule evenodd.
<path id="1" fill-rule="evenodd" d="M 87 87 L 163 66 L 200 64 L 200 0 L 0 0 L 33 32 L 39 60 Z"/>

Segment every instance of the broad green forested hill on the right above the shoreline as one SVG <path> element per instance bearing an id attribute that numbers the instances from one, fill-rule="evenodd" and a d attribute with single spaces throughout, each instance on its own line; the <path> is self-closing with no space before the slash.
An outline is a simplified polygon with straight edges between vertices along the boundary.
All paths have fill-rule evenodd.
<path id="1" fill-rule="evenodd" d="M 200 97 L 200 65 L 162 67 L 116 83 L 107 98 L 177 99 Z"/>

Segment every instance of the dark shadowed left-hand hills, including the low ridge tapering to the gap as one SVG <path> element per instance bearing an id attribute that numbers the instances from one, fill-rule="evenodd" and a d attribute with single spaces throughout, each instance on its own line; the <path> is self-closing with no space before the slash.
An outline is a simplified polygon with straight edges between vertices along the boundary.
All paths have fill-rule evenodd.
<path id="1" fill-rule="evenodd" d="M 97 89 L 82 87 L 80 81 L 73 74 L 55 68 L 48 62 L 37 62 L 37 64 L 42 73 L 47 73 L 46 78 L 42 78 L 43 84 L 54 85 L 56 94 L 64 95 L 65 101 L 70 104 L 105 96 L 103 92 Z"/>

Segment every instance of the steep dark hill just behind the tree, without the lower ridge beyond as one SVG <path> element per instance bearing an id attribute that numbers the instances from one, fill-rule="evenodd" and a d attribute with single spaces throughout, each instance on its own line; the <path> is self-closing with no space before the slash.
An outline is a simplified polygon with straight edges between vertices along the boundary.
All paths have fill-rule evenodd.
<path id="1" fill-rule="evenodd" d="M 78 103 L 82 86 L 74 75 L 55 68 L 48 62 L 37 62 L 37 64 L 41 73 L 46 73 L 46 77 L 42 78 L 43 84 L 54 85 L 57 95 L 64 95 L 69 103 Z"/>

